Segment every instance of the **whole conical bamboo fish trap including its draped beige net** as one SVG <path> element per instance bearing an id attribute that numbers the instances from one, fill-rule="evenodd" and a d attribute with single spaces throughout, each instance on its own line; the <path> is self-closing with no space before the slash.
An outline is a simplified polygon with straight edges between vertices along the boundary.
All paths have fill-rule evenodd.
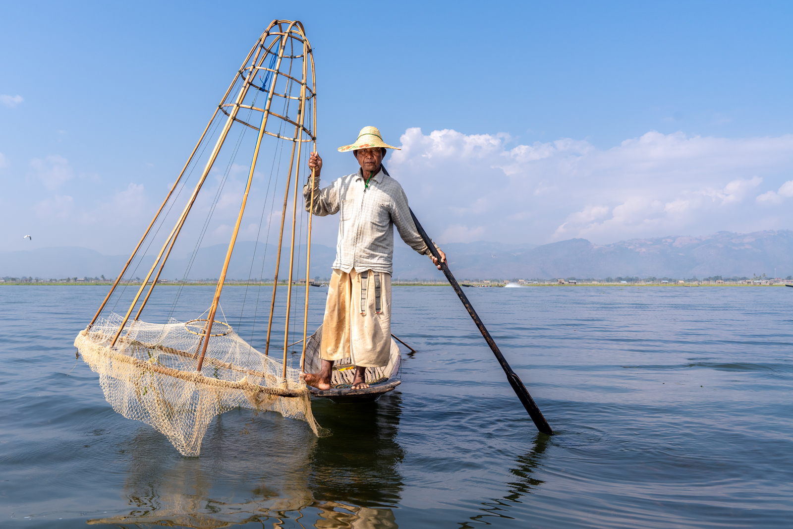
<path id="1" fill-rule="evenodd" d="M 184 455 L 198 455 L 201 439 L 213 417 L 238 406 L 277 411 L 283 416 L 305 420 L 317 435 L 321 433 L 312 416 L 308 389 L 298 376 L 299 370 L 288 366 L 287 359 L 290 333 L 294 337 L 301 324 L 303 343 L 307 334 L 311 215 L 303 208 L 298 214 L 297 204 L 303 200 L 299 193 L 302 186 L 298 183 L 301 176 L 305 178 L 309 148 L 316 151 L 316 82 L 311 45 L 300 22 L 273 21 L 239 67 L 185 167 L 148 224 L 96 316 L 75 339 L 75 347 L 82 358 L 91 370 L 100 375 L 105 398 L 113 409 L 128 419 L 142 420 L 155 427 Z M 266 167 L 270 164 L 268 154 L 272 155 L 272 167 Z M 212 232 L 211 227 L 217 218 L 213 219 L 213 215 L 216 215 L 220 199 L 225 196 L 223 186 L 232 170 L 240 168 L 235 160 L 243 155 L 251 156 L 246 167 L 247 181 L 220 278 L 213 296 L 207 300 L 206 316 L 198 314 L 200 309 L 193 307 L 180 309 L 184 305 L 180 303 L 182 286 L 200 254 L 201 241 L 208 232 Z M 256 178 L 263 178 L 262 171 L 257 171 L 258 162 L 265 167 L 262 171 L 270 170 L 259 222 L 261 234 L 269 199 L 268 240 L 270 224 L 275 224 L 274 221 L 270 223 L 270 219 L 277 219 L 279 213 L 274 208 L 281 205 L 275 200 L 276 192 L 281 190 L 279 186 L 283 186 L 284 193 L 274 276 L 270 276 L 274 280 L 263 352 L 243 340 L 228 322 L 223 321 L 225 317 L 220 309 L 220 297 L 240 225 L 246 211 L 251 209 L 253 199 L 249 195 Z M 278 170 L 275 169 L 276 163 Z M 208 180 L 210 175 L 213 178 Z M 190 178 L 196 178 L 194 183 L 190 183 L 191 193 L 188 187 Z M 209 198 L 202 198 L 208 194 L 206 188 L 212 187 L 208 182 L 213 179 L 217 182 L 215 196 L 212 197 L 210 189 Z M 169 231 L 167 227 L 171 225 Z M 287 241 L 283 240 L 285 228 L 289 229 Z M 305 245 L 300 246 L 304 237 Z M 184 240 L 187 243 L 182 243 Z M 163 270 L 171 251 L 180 247 L 178 242 L 182 246 L 193 247 L 182 285 L 163 323 L 144 322 L 140 319 L 141 313 L 161 276 L 165 277 Z M 283 313 L 280 307 L 276 310 L 282 243 L 289 243 L 289 255 L 286 256 L 289 273 Z M 258 247 L 259 235 L 255 252 Z M 266 247 L 265 244 L 265 251 Z M 298 294 L 297 289 L 293 289 L 293 282 L 294 276 L 301 273 L 300 248 L 303 247 L 306 279 L 301 320 L 297 306 L 293 304 L 293 297 Z M 262 274 L 265 259 L 266 254 L 262 257 Z M 141 268 L 144 263 L 145 268 Z M 251 260 L 251 270 L 254 264 L 258 266 L 256 255 Z M 137 287 L 131 278 L 139 269 L 147 272 Z M 251 282 L 250 275 L 248 281 Z M 262 278 L 259 278 L 259 289 L 262 288 L 261 283 Z M 115 305 L 110 307 L 109 302 L 113 299 Z M 129 305 L 123 316 L 113 310 L 119 304 L 126 306 L 127 302 Z M 258 301 L 256 306 L 258 309 Z M 109 313 L 103 317 L 105 309 Z M 174 318 L 180 311 L 185 316 Z M 285 324 L 283 355 L 274 358 L 270 356 L 270 340 L 275 335 L 281 338 L 280 332 L 274 331 L 281 320 Z"/>

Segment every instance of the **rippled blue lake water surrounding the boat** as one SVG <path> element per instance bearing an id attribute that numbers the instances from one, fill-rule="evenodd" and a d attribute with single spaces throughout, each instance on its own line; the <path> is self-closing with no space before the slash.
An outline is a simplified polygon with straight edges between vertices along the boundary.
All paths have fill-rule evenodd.
<path id="1" fill-rule="evenodd" d="M 182 301 L 200 313 L 212 291 Z M 106 287 L 0 287 L 0 526 L 791 525 L 793 289 L 465 291 L 557 435 L 538 434 L 452 289 L 395 287 L 393 332 L 418 350 L 397 391 L 314 401 L 323 439 L 227 412 L 184 458 L 75 360 Z M 229 322 L 245 295 L 224 290 Z"/>

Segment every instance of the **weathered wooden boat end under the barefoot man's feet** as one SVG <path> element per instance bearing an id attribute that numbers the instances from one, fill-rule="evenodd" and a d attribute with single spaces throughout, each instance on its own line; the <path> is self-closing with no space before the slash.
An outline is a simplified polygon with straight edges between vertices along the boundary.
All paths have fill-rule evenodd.
<path id="1" fill-rule="evenodd" d="M 308 337 L 305 347 L 305 372 L 316 373 L 322 366 L 320 359 L 320 343 L 322 342 L 322 325 L 316 332 Z M 355 376 L 355 366 L 351 358 L 344 358 L 333 362 L 331 374 L 331 389 L 322 390 L 308 386 L 312 397 L 324 397 L 337 404 L 351 402 L 374 402 L 385 393 L 393 391 L 400 385 L 400 366 L 402 354 L 394 339 L 391 339 L 391 355 L 389 363 L 384 367 L 370 367 L 366 369 L 366 383 L 368 388 L 352 389 Z"/>

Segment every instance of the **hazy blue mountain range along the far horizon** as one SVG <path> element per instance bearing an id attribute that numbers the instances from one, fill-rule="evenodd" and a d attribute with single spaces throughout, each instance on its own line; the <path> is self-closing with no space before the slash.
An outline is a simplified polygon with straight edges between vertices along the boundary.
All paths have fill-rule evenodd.
<path id="1" fill-rule="evenodd" d="M 394 278 L 442 278 L 429 259 L 416 254 L 396 238 Z M 163 278 L 182 278 L 189 269 L 191 279 L 217 278 L 226 245 L 201 248 L 189 268 L 187 256 L 169 259 Z M 449 255 L 450 267 L 460 278 L 606 278 L 648 277 L 705 278 L 768 274 L 786 277 L 793 274 L 793 231 L 753 233 L 718 232 L 709 236 L 668 236 L 653 239 L 623 240 L 600 246 L 584 239 L 534 246 L 508 243 L 448 243 L 442 249 Z M 287 250 L 288 253 L 288 250 Z M 305 246 L 297 253 L 305 266 Z M 312 244 L 311 277 L 330 276 L 335 247 Z M 45 247 L 32 251 L 0 252 L 0 277 L 34 278 L 115 277 L 128 255 L 102 255 L 83 247 Z M 263 261 L 263 266 L 262 266 Z M 144 277 L 153 259 L 147 257 L 133 277 Z M 252 266 L 251 266 L 252 263 Z M 288 261 L 286 261 L 288 263 Z M 275 247 L 253 242 L 238 243 L 228 278 L 272 278 Z M 262 274 L 262 268 L 264 273 Z M 282 259 L 280 277 L 288 265 Z M 303 274 L 299 274 L 303 277 Z"/>

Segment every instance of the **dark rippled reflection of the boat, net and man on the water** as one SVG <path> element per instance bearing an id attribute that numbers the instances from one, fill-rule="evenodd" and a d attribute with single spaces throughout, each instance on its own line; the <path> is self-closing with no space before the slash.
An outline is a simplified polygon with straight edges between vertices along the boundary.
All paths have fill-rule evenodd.
<path id="1" fill-rule="evenodd" d="M 199 458 L 179 457 L 162 436 L 140 428 L 119 447 L 129 511 L 88 523 L 396 528 L 388 506 L 400 502 L 402 490 L 399 393 L 350 406 L 320 399 L 314 407 L 335 435 L 317 439 L 278 414 L 232 411 L 216 417 Z"/>

